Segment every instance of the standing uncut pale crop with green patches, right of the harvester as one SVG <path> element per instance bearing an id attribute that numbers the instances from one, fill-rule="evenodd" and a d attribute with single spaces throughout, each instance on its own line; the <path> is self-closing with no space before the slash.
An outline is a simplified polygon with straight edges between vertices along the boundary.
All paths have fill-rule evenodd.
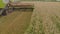
<path id="1" fill-rule="evenodd" d="M 60 2 L 35 2 L 30 25 L 24 34 L 60 34 Z"/>

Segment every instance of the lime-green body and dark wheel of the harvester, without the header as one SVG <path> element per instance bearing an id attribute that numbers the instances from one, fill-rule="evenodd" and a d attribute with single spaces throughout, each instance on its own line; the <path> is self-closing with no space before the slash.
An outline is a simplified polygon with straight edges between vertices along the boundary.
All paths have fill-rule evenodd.
<path id="1" fill-rule="evenodd" d="M 0 0 L 0 16 L 7 15 L 6 10 L 8 9 L 9 0 Z"/>

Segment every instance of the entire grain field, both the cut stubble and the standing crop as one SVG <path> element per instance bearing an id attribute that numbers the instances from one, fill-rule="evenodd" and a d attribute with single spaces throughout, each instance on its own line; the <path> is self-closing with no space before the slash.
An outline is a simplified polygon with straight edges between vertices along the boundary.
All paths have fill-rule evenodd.
<path id="1" fill-rule="evenodd" d="M 1 17 L 0 34 L 60 34 L 60 2 L 27 3 L 34 3 L 34 11 L 15 11 Z"/>

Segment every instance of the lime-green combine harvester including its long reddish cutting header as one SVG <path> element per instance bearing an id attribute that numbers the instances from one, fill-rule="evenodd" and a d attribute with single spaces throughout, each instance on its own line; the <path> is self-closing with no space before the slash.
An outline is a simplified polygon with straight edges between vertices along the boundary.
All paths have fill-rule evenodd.
<path id="1" fill-rule="evenodd" d="M 21 3 L 20 2 L 16 2 L 16 0 L 14 0 L 14 2 L 12 2 L 11 0 L 0 0 L 0 15 L 5 16 L 7 15 L 8 12 L 11 12 L 10 10 L 14 11 L 16 9 L 23 9 L 24 11 L 26 9 L 31 9 L 33 11 L 34 9 L 34 4 L 32 3 Z"/>

